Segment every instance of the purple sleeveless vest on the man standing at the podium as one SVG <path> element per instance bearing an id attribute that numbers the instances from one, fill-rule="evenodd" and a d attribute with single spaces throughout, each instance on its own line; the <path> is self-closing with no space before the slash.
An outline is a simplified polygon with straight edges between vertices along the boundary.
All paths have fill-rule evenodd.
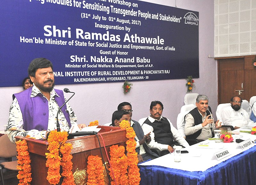
<path id="1" fill-rule="evenodd" d="M 61 107 L 65 103 L 64 94 L 62 90 L 54 89 L 55 92 L 60 96 L 58 97 L 55 95 L 55 100 L 59 107 Z M 48 101 L 41 93 L 37 94 L 35 97 L 30 97 L 32 88 L 28 88 L 25 91 L 20 93 L 16 93 L 12 95 L 12 98 L 15 97 L 18 100 L 20 105 L 20 110 L 23 117 L 23 129 L 32 130 L 37 129 L 47 130 L 48 128 L 48 118 L 49 118 L 49 108 L 48 108 Z M 61 108 L 69 127 L 71 127 L 69 114 L 66 111 L 67 106 L 64 105 Z"/>

